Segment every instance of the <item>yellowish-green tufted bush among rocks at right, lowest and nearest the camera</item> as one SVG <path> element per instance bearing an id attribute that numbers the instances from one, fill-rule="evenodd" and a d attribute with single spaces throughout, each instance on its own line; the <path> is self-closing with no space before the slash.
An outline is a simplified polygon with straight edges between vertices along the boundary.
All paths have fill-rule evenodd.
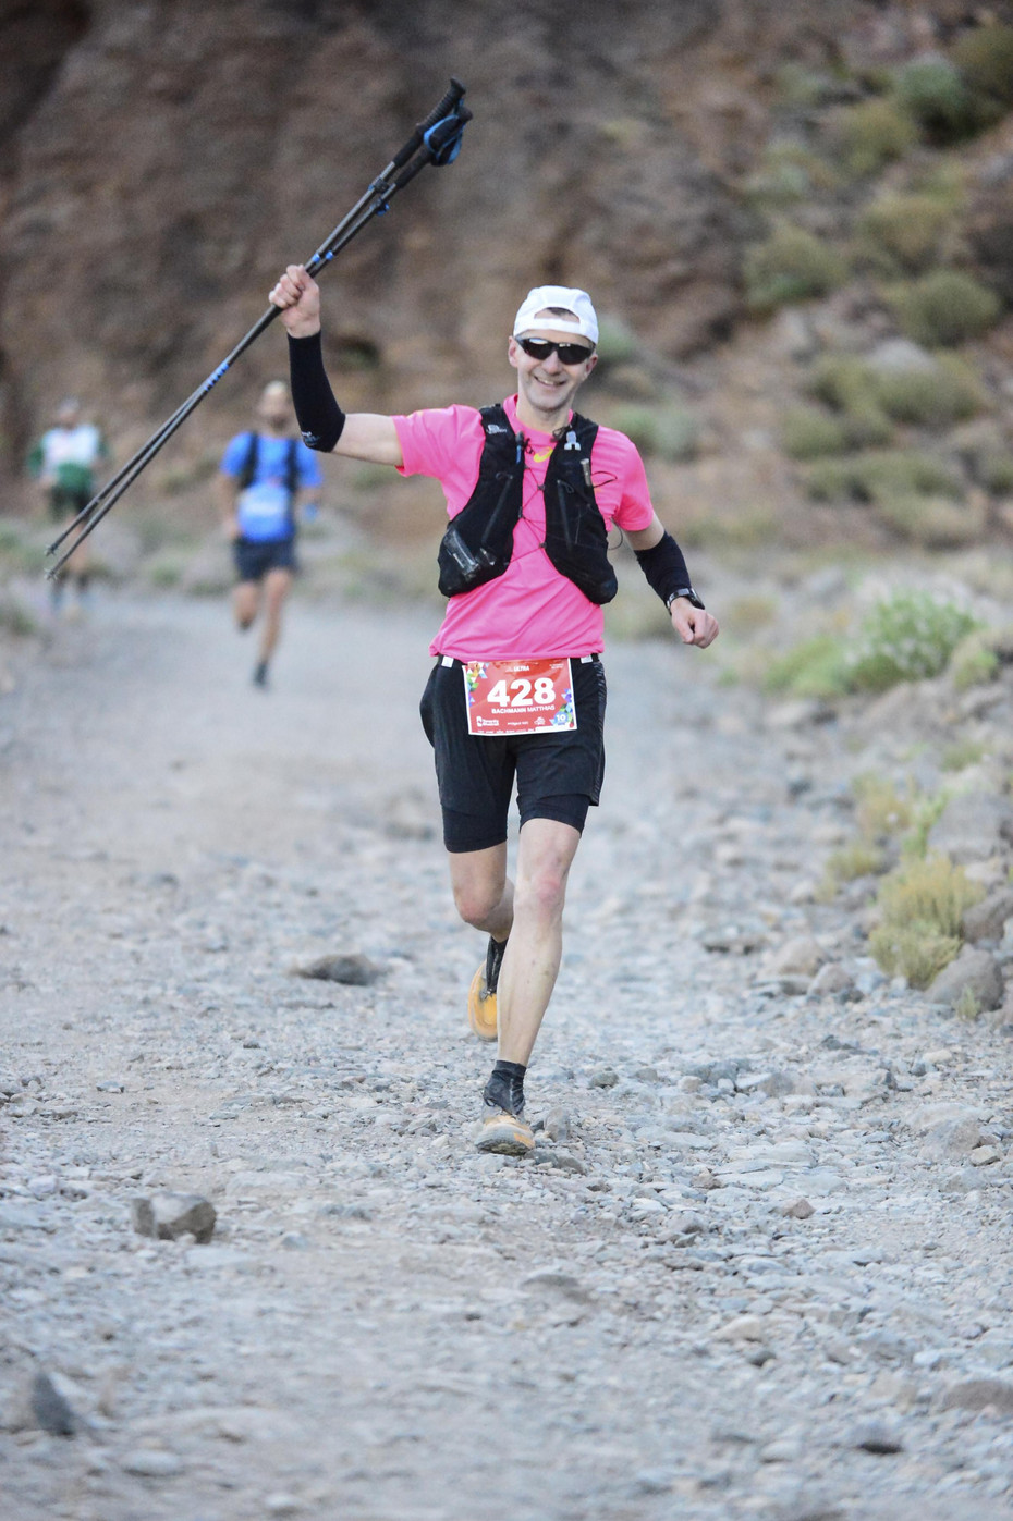
<path id="1" fill-rule="evenodd" d="M 928 987 L 958 954 L 964 913 L 983 896 L 984 888 L 946 856 L 907 861 L 879 887 L 872 954 L 888 975 Z"/>

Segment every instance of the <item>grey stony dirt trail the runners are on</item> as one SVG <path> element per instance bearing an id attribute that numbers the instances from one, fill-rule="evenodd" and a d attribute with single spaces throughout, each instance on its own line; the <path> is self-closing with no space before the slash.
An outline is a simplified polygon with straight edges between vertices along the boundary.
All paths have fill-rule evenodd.
<path id="1" fill-rule="evenodd" d="M 479 1157 L 430 624 L 297 605 L 262 694 L 122 595 L 2 700 L 2 1513 L 1013 1515 L 1013 1043 L 805 890 L 843 726 L 610 651 L 540 1148 Z"/>

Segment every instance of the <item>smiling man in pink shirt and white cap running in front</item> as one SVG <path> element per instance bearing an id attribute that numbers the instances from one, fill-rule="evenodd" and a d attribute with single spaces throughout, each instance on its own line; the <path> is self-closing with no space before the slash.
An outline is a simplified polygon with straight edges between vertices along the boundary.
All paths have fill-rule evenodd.
<path id="1" fill-rule="evenodd" d="M 517 394 L 500 408 L 345 414 L 321 359 L 319 289 L 289 265 L 271 292 L 289 333 L 292 399 L 313 449 L 435 476 L 450 525 L 440 549 L 447 614 L 421 701 L 433 744 L 458 913 L 490 935 L 472 1022 L 499 1037 L 479 1150 L 534 1150 L 523 1078 L 555 986 L 566 881 L 604 771 L 601 604 L 614 595 L 613 523 L 683 643 L 718 625 L 659 522 L 633 443 L 573 412 L 598 356 L 584 291 L 529 292 L 508 339 Z M 506 876 L 514 779 L 517 873 Z"/>

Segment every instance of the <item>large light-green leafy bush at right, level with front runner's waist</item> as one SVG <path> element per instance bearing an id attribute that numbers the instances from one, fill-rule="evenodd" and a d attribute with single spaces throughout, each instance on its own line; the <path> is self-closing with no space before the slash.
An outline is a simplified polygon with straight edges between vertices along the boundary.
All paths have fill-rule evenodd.
<path id="1" fill-rule="evenodd" d="M 960 640 L 976 628 L 970 613 L 928 592 L 894 592 L 862 619 L 847 659 L 850 684 L 885 692 L 899 681 L 938 675 Z"/>

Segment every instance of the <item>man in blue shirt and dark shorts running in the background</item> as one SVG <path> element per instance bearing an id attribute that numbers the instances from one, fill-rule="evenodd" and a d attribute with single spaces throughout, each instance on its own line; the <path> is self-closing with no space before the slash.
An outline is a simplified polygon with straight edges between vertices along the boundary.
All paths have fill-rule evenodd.
<path id="1" fill-rule="evenodd" d="M 266 686 L 295 570 L 297 511 L 306 513 L 316 505 L 324 478 L 306 444 L 292 437 L 292 405 L 283 380 L 271 380 L 263 388 L 257 423 L 254 432 L 230 440 L 218 484 L 225 532 L 236 558 L 233 611 L 239 628 L 249 628 L 263 593 L 254 684 Z"/>

